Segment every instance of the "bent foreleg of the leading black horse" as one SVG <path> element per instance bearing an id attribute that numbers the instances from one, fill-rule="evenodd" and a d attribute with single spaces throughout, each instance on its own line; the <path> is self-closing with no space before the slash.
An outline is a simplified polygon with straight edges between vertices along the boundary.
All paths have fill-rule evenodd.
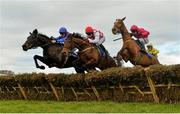
<path id="1" fill-rule="evenodd" d="M 37 61 L 37 60 L 40 60 L 42 63 L 48 65 L 47 60 L 46 60 L 44 57 L 39 56 L 39 55 L 35 55 L 35 56 L 34 56 L 34 61 L 35 61 L 36 68 L 40 68 L 40 69 L 43 69 L 43 70 L 44 70 L 45 67 L 44 67 L 43 65 L 40 66 L 40 65 L 38 64 L 38 61 Z"/>

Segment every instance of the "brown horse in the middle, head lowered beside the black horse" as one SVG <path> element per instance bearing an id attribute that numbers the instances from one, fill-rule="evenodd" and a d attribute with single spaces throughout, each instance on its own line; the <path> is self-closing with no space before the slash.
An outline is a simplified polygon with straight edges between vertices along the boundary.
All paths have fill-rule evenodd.
<path id="1" fill-rule="evenodd" d="M 90 44 L 87 39 L 82 37 L 74 37 L 70 35 L 64 43 L 62 54 L 64 55 L 65 61 L 68 58 L 68 53 L 71 49 L 78 48 L 79 58 L 83 62 L 82 68 L 88 68 L 89 70 L 95 67 L 100 70 L 104 70 L 109 67 L 116 67 L 117 64 L 114 59 L 108 55 L 102 57 L 97 46 Z"/>

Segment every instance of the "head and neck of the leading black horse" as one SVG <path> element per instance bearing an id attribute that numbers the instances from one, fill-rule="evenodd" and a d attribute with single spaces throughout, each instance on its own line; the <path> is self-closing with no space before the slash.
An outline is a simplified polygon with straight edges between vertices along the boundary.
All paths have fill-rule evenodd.
<path id="1" fill-rule="evenodd" d="M 37 48 L 43 44 L 50 42 L 50 39 L 42 34 L 38 33 L 38 30 L 35 29 L 33 32 L 30 32 L 30 35 L 27 37 L 26 42 L 22 45 L 24 51 L 28 49 Z"/>

